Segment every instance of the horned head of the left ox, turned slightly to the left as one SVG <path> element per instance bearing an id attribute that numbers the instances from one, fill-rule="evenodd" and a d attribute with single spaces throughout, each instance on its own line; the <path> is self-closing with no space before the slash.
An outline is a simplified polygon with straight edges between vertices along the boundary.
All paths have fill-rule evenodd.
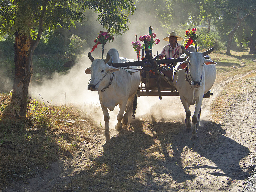
<path id="1" fill-rule="evenodd" d="M 120 69 L 107 64 L 110 59 L 109 53 L 107 53 L 106 59 L 94 59 L 91 52 L 88 53 L 88 57 L 92 61 L 91 67 L 85 70 L 86 74 L 91 74 L 88 90 L 101 91 L 109 85 L 110 73 L 120 71 Z"/>

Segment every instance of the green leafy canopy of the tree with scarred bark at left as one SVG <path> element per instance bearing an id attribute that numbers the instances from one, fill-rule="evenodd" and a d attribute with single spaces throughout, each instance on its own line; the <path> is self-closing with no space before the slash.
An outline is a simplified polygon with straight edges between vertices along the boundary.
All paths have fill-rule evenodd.
<path id="1" fill-rule="evenodd" d="M 46 5 L 45 15 L 42 10 Z M 41 17 L 43 28 L 75 27 L 74 23 L 87 19 L 83 11 L 93 9 L 97 20 L 111 33 L 121 35 L 128 30 L 128 15 L 135 6 L 131 0 L 3 0 L 0 2 L 0 37 L 19 32 L 35 37 Z"/>

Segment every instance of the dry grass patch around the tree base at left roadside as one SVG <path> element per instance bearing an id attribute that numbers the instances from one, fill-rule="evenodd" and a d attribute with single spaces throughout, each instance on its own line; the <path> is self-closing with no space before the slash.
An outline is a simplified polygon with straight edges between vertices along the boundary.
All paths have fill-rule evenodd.
<path id="1" fill-rule="evenodd" d="M 97 129 L 74 107 L 33 100 L 25 120 L 15 118 L 16 108 L 11 94 L 0 94 L 0 187 L 49 168 Z"/>

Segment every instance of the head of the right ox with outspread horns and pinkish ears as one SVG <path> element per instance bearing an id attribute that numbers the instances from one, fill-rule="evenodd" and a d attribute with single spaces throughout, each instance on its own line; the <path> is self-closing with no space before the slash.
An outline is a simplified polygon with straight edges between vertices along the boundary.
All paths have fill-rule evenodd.
<path id="1" fill-rule="evenodd" d="M 205 59 L 204 56 L 210 54 L 214 48 L 211 48 L 205 52 L 189 52 L 182 46 L 183 52 L 188 56 L 186 61 L 180 63 L 177 70 L 187 68 L 187 76 L 190 79 L 191 86 L 198 88 L 202 85 L 202 74 L 204 70 L 204 65 L 216 65 L 217 63 L 211 61 L 210 59 Z"/>

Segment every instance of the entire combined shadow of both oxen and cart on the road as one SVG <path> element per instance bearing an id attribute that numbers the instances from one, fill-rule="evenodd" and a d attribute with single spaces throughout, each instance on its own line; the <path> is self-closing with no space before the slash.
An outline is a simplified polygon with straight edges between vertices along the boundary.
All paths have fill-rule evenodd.
<path id="1" fill-rule="evenodd" d="M 153 119 L 152 119 L 153 120 Z M 90 191 L 147 191 L 176 190 L 170 184 L 193 180 L 198 175 L 188 174 L 188 169 L 212 169 L 210 175 L 246 179 L 239 161 L 249 153 L 248 148 L 225 136 L 221 124 L 202 121 L 198 128 L 199 141 L 193 144 L 191 133 L 180 122 L 132 122 L 103 145 L 103 152 L 90 156 L 90 168 L 80 172 Z M 210 133 L 209 133 L 210 132 Z M 215 166 L 187 164 L 186 151 L 194 151 L 212 161 Z M 161 180 L 161 178 L 164 178 Z M 168 181 L 168 182 L 166 182 Z"/>

